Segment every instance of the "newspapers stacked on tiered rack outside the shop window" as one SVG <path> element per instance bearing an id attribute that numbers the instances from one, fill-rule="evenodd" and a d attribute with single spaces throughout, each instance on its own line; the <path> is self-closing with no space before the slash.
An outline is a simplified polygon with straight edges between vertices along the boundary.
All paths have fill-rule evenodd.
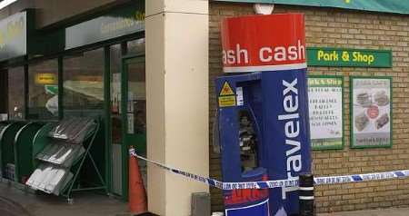
<path id="1" fill-rule="evenodd" d="M 35 155 L 41 163 L 25 184 L 59 195 L 73 179 L 70 169 L 84 157 L 83 142 L 94 129 L 95 121 L 89 118 L 70 118 L 58 123 L 48 133 L 50 142 Z"/>

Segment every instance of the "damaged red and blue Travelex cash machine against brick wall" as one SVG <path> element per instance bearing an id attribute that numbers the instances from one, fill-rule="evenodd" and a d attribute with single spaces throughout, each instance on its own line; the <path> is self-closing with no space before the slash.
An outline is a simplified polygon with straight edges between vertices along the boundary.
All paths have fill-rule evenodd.
<path id="1" fill-rule="evenodd" d="M 310 172 L 304 15 L 222 22 L 216 79 L 224 182 L 294 180 Z M 227 216 L 298 213 L 296 187 L 225 190 Z"/>

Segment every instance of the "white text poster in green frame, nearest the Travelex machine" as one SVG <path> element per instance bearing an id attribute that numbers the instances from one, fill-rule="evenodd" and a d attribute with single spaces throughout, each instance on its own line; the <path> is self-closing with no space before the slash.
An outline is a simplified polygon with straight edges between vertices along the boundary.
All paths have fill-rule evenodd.
<path id="1" fill-rule="evenodd" d="M 308 102 L 313 150 L 343 149 L 343 77 L 309 76 Z"/>

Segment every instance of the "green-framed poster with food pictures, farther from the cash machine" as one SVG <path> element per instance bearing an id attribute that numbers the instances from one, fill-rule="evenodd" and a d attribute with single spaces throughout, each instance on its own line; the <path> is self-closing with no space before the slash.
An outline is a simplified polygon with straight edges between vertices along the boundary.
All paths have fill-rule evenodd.
<path id="1" fill-rule="evenodd" d="M 351 148 L 392 146 L 392 78 L 351 77 Z"/>

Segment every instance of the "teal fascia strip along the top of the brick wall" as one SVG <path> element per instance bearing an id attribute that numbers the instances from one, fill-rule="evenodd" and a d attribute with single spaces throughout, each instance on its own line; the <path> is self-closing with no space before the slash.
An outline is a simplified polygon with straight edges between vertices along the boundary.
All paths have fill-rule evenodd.
<path id="1" fill-rule="evenodd" d="M 409 4 L 404 0 L 214 0 L 219 2 L 267 3 L 335 7 L 409 15 Z"/>

